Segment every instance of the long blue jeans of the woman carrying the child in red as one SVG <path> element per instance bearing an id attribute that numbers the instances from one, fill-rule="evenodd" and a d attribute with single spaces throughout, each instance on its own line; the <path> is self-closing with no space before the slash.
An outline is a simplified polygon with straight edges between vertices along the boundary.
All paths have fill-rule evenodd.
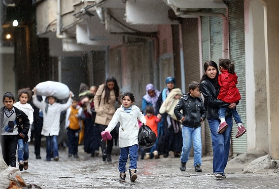
<path id="1" fill-rule="evenodd" d="M 219 120 L 207 120 L 211 130 L 212 147 L 213 147 L 213 173 L 225 174 L 225 168 L 228 163 L 232 117 L 226 118 L 228 128 L 224 133 L 218 134 Z"/>

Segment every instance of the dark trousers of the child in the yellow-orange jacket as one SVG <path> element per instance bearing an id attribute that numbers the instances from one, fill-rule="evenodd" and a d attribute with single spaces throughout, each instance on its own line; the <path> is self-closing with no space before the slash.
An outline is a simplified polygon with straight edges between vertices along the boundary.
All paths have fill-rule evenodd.
<path id="1" fill-rule="evenodd" d="M 68 154 L 77 155 L 79 145 L 79 130 L 68 129 Z"/>

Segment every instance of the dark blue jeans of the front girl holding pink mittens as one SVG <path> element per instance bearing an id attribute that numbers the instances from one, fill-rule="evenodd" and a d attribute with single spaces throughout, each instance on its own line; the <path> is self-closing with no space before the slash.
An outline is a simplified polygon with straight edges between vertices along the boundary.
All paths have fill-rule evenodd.
<path id="1" fill-rule="evenodd" d="M 119 156 L 119 164 L 118 164 L 118 170 L 120 173 L 126 172 L 127 170 L 126 163 L 128 161 L 128 155 L 130 158 L 129 170 L 136 169 L 137 150 L 138 150 L 137 144 L 120 148 L 120 156 Z"/>

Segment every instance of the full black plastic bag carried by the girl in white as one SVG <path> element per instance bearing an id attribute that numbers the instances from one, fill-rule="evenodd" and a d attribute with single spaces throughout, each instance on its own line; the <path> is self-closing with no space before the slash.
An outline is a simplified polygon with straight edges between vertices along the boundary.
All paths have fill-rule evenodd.
<path id="1" fill-rule="evenodd" d="M 143 149 L 149 148 L 153 146 L 156 142 L 156 134 L 152 129 L 150 129 L 147 125 L 142 125 L 140 130 L 138 131 L 138 146 L 140 146 Z"/>

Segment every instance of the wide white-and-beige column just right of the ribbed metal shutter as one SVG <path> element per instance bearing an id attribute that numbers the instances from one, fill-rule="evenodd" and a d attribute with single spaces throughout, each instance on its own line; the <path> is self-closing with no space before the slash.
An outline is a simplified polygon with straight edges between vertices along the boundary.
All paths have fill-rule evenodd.
<path id="1" fill-rule="evenodd" d="M 248 150 L 268 153 L 264 11 L 245 1 L 246 106 Z"/>

